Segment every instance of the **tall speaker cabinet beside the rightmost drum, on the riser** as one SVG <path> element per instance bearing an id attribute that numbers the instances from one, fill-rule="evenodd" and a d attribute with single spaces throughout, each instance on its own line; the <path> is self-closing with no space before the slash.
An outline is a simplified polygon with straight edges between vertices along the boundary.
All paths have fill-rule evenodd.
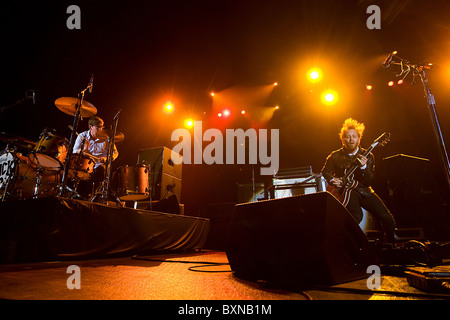
<path id="1" fill-rule="evenodd" d="M 175 164 L 172 150 L 166 147 L 142 149 L 138 154 L 138 163 L 142 162 L 150 164 L 152 200 L 162 200 L 174 194 L 181 201 L 182 163 Z"/>

